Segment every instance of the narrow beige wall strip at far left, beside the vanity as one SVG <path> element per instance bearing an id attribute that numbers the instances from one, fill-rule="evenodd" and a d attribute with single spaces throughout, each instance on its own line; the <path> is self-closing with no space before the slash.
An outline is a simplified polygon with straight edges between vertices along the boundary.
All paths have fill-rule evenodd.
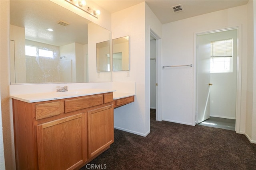
<path id="1" fill-rule="evenodd" d="M 9 98 L 10 85 L 10 59 L 9 59 L 9 23 L 10 23 L 10 2 L 0 1 L 0 84 L 1 84 L 1 116 L 3 134 L 4 151 L 0 149 L 1 166 L 2 160 L 5 160 L 6 170 L 14 170 L 15 152 L 14 152 L 14 137 L 12 123 L 12 106 Z M 3 158 L 4 152 L 4 158 Z M 2 167 L 1 167 L 2 169 Z"/>

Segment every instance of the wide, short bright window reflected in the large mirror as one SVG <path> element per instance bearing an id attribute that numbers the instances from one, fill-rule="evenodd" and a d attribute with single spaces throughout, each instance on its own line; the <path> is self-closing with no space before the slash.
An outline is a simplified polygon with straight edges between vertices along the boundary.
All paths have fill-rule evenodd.
<path id="1" fill-rule="evenodd" d="M 25 45 L 25 55 L 34 57 L 54 57 L 54 50 L 44 49 L 40 47 L 34 47 L 30 45 Z"/>

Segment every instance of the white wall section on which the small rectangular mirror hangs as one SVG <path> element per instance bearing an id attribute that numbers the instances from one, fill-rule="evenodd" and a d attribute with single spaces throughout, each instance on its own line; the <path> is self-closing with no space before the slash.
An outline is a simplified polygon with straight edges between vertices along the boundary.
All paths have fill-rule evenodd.
<path id="1" fill-rule="evenodd" d="M 136 18 L 136 20 L 134 20 Z M 112 14 L 112 39 L 130 36 L 130 76 L 126 71 L 112 73 L 112 81 L 136 82 L 135 101 L 114 110 L 114 127 L 145 136 L 145 3 Z"/>

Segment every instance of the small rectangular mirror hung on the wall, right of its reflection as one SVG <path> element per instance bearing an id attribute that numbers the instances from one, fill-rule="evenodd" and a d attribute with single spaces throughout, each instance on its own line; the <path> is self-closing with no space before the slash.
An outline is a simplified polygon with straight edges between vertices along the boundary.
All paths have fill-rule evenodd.
<path id="1" fill-rule="evenodd" d="M 129 70 L 129 36 L 112 40 L 113 71 Z"/>

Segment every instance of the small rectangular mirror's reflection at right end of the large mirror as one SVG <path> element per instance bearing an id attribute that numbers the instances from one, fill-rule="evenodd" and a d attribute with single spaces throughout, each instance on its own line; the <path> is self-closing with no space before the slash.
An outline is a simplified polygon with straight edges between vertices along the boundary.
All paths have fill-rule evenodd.
<path id="1" fill-rule="evenodd" d="M 110 41 L 96 44 L 97 72 L 110 71 Z"/>

